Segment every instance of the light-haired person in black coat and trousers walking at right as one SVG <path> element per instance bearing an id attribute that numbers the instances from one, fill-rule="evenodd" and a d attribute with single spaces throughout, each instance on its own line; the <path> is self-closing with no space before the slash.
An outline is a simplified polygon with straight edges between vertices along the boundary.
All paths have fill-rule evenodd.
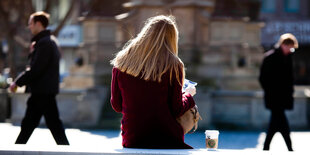
<path id="1" fill-rule="evenodd" d="M 295 48 L 298 48 L 297 39 L 286 33 L 281 35 L 274 49 L 264 54 L 259 82 L 264 90 L 265 106 L 271 110 L 264 150 L 269 150 L 272 137 L 279 131 L 288 150 L 293 151 L 285 110 L 293 109 L 294 104 L 292 52 Z"/>

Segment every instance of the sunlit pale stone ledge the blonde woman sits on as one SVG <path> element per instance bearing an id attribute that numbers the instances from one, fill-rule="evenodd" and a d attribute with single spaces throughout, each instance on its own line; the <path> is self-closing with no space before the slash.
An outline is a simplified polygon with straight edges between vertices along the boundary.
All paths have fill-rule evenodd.
<path id="1" fill-rule="evenodd" d="M 148 154 L 148 155 L 159 155 L 159 154 L 208 154 L 208 155 L 219 155 L 219 154 L 251 154 L 251 155 L 276 155 L 279 152 L 268 152 L 260 150 L 230 150 L 230 149 L 219 149 L 217 151 L 208 151 L 207 149 L 111 149 L 111 148 L 102 148 L 102 149 L 85 149 L 77 147 L 66 147 L 66 146 L 57 146 L 54 148 L 29 148 L 27 146 L 14 146 L 11 148 L 0 148 L 1 155 L 104 155 L 104 154 Z M 300 154 L 298 153 L 289 153 L 289 154 Z M 288 154 L 286 152 L 281 152 L 281 154 Z"/>

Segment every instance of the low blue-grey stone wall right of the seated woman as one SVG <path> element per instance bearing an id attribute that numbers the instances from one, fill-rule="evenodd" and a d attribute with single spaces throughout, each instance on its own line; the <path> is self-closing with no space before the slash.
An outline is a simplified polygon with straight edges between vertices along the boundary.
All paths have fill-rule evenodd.
<path id="1" fill-rule="evenodd" d="M 203 118 L 200 129 L 232 127 L 236 129 L 266 130 L 270 110 L 264 105 L 262 91 L 212 91 L 197 90 L 195 101 Z M 307 129 L 308 99 L 295 92 L 294 109 L 286 111 L 292 130 Z M 214 126 L 215 125 L 215 126 Z M 220 125 L 220 126 L 217 126 Z"/>

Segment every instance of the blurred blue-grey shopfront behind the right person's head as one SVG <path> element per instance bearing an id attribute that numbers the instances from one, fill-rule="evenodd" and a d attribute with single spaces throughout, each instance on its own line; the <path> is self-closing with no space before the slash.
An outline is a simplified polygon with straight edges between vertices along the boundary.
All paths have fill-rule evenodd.
<path id="1" fill-rule="evenodd" d="M 292 33 L 300 47 L 294 54 L 295 84 L 310 84 L 310 2 L 307 0 L 263 0 L 260 19 L 265 23 L 262 42 L 270 48 L 283 33 Z"/>

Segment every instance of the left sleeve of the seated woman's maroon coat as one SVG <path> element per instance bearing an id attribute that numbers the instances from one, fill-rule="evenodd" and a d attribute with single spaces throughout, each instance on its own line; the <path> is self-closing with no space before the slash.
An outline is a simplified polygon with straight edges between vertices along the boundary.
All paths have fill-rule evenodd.
<path id="1" fill-rule="evenodd" d="M 116 112 L 122 112 L 122 95 L 118 85 L 119 71 L 116 68 L 112 69 L 111 81 L 111 105 Z"/>

